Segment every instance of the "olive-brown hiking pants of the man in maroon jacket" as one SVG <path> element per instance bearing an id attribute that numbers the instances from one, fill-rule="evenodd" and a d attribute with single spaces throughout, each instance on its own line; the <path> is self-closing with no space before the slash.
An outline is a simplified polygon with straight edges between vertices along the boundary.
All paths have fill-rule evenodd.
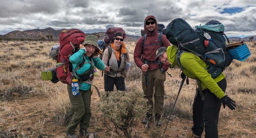
<path id="1" fill-rule="evenodd" d="M 166 79 L 165 72 L 162 73 L 160 69 L 154 69 L 148 71 L 148 87 L 146 89 L 146 80 L 145 74 L 147 72 L 142 71 L 142 89 L 144 91 L 145 97 L 148 95 L 148 105 L 151 105 L 149 109 L 149 113 L 153 113 L 153 109 L 155 109 L 155 113 L 161 115 L 163 113 L 163 101 L 164 101 L 164 81 Z M 155 90 L 155 93 L 154 93 Z M 153 97 L 154 102 L 153 104 Z"/>

